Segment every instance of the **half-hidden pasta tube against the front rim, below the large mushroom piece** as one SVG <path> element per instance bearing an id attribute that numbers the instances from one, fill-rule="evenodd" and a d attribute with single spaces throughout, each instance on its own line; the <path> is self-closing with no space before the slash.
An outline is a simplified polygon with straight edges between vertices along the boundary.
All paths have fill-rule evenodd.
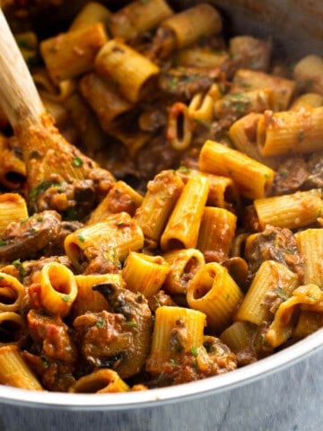
<path id="1" fill-rule="evenodd" d="M 102 368 L 83 375 L 68 389 L 72 393 L 127 392 L 130 388 L 117 372 Z"/>

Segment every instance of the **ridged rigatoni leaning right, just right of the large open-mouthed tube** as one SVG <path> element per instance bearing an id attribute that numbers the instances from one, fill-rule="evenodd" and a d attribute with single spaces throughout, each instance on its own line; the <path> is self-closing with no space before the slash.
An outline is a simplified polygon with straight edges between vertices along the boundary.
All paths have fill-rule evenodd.
<path id="1" fill-rule="evenodd" d="M 234 316 L 235 321 L 249 321 L 258 326 L 274 319 L 280 303 L 292 295 L 298 277 L 275 260 L 265 260 L 252 280 L 251 286 Z"/>

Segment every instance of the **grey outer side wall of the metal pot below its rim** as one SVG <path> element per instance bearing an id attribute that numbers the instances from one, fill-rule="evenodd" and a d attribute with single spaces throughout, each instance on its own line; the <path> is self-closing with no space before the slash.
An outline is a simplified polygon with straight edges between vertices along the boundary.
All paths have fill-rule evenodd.
<path id="1" fill-rule="evenodd" d="M 319 431 L 323 349 L 254 383 L 145 409 L 79 411 L 0 404 L 1 431 Z"/>

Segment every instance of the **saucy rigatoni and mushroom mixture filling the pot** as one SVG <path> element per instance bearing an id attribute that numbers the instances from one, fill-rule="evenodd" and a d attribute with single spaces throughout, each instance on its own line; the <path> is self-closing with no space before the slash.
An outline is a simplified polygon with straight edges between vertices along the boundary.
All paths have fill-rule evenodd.
<path id="1" fill-rule="evenodd" d="M 80 153 L 25 163 L 0 113 L 0 384 L 148 390 L 321 328 L 323 59 L 223 29 L 135 0 L 16 35 Z"/>

